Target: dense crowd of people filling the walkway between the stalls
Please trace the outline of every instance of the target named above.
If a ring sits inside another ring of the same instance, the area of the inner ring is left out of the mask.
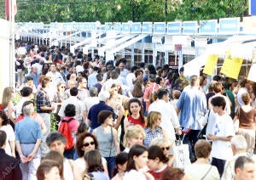
[[[16,87],[2,94],[0,179],[256,178],[246,76],[186,77],[32,42],[16,43],[15,65]]]

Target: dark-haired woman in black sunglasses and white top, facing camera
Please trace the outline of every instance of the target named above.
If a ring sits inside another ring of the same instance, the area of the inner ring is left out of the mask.
[[[79,158],[74,161],[74,163],[79,167],[79,172],[83,175],[83,172],[86,170],[86,166],[84,166],[84,154],[89,152],[90,150],[99,149],[99,143],[96,137],[89,132],[84,132],[79,134],[76,143],[77,153]],[[108,175],[108,166],[107,160],[102,157],[102,166],[104,172]]]

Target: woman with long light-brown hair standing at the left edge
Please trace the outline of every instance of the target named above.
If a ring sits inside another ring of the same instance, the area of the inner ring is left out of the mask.
[[[13,87],[5,87],[3,89],[2,106],[6,112],[8,119],[10,120],[11,126],[15,127],[15,105],[12,100],[15,98],[15,89]]]

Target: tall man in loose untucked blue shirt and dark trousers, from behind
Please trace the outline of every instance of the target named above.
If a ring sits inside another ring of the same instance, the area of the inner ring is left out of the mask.
[[[207,110],[207,98],[199,90],[198,76],[192,76],[190,87],[186,87],[177,101],[177,114],[180,112],[180,125],[188,130],[183,143],[189,144],[189,157],[195,159],[192,145],[196,143],[197,135],[201,130],[201,118]]]

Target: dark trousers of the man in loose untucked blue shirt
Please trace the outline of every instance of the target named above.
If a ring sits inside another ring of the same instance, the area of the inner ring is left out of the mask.
[[[183,136],[185,136],[183,139],[183,143],[186,143],[189,145],[189,158],[195,157],[194,146],[195,146],[196,141],[198,140],[197,136],[198,136],[199,132],[200,132],[200,130],[192,130],[191,129],[188,134],[183,135]]]

